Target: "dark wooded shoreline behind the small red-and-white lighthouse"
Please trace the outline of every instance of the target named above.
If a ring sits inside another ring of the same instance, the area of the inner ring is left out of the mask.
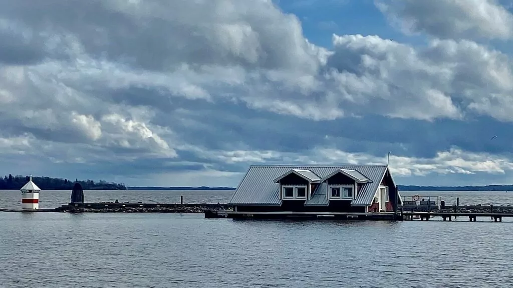
[[[5,176],[0,178],[0,190],[19,190],[29,180],[29,176],[16,175]],[[126,190],[125,184],[123,183],[109,183],[104,180],[95,182],[93,180],[78,180],[70,181],[62,178],[50,178],[50,177],[34,177],[32,181],[41,190],[73,190],[75,182],[82,185],[84,190]]]

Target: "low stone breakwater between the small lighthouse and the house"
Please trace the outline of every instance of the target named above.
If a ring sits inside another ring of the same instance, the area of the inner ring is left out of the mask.
[[[205,213],[231,210],[228,204],[69,203],[55,209],[67,213]]]

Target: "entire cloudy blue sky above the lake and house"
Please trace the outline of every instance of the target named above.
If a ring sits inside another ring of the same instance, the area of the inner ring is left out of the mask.
[[[399,184],[513,183],[512,4],[0,0],[0,169],[236,186],[391,151]]]

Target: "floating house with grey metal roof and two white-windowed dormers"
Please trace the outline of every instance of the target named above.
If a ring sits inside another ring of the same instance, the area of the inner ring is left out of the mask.
[[[402,205],[386,165],[250,166],[235,212],[394,212]]]

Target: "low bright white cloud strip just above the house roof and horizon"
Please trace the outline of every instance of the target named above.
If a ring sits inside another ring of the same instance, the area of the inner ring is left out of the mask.
[[[279,163],[298,165],[317,164],[386,164],[387,156],[372,156],[366,153],[349,153],[333,148],[314,148],[297,153],[280,151],[209,151],[198,147],[188,147],[204,159],[222,163]],[[436,176],[450,174],[506,174],[513,172],[513,160],[490,153],[473,153],[452,147],[440,151],[434,157],[405,157],[390,155],[390,170],[394,177],[404,179],[411,176]],[[193,172],[188,172],[192,174]],[[200,174],[203,175],[204,172]],[[200,175],[198,174],[198,176]],[[200,176],[199,176],[200,177]]]

